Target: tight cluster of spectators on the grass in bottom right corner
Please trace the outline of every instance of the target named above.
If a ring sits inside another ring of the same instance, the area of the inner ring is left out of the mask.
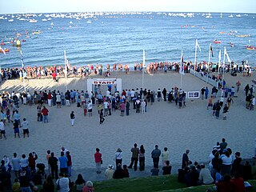
[[[190,150],[182,156],[182,169],[178,170],[178,181],[185,182],[186,186],[200,186],[215,184],[207,191],[245,191],[251,189],[251,185],[245,182],[255,175],[255,166],[250,162],[242,162],[240,152],[233,154],[227,147],[225,138],[217,142],[210,153],[209,164],[191,162],[189,159]],[[254,167],[254,168],[253,168]]]

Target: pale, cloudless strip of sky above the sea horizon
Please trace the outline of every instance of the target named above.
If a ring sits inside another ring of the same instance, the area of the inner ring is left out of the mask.
[[[1,0],[0,14],[93,11],[256,13],[255,0]]]

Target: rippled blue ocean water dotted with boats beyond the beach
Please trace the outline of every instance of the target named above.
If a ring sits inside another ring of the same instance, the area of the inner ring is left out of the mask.
[[[218,62],[220,49],[223,59],[226,46],[232,61],[247,60],[250,66],[256,66],[256,50],[245,47],[256,46],[256,14],[239,14],[241,17],[233,14],[233,18],[230,14],[221,17],[218,13],[209,18],[202,13],[194,13],[194,17],[172,16],[171,13],[62,14],[64,18],[59,14],[49,15],[37,14],[30,18],[18,14],[0,15],[0,39],[6,42],[2,48],[10,48],[6,56],[0,54],[2,67],[21,66],[19,49],[8,43],[17,33],[22,34],[20,40],[26,40],[21,47],[25,66],[64,65],[64,50],[72,66],[122,63],[132,67],[135,62],[142,62],[143,49],[146,63],[178,62],[182,50],[184,60],[194,62],[196,38],[201,47],[197,52],[198,62],[208,62],[212,43],[214,57],[210,57],[210,62]],[[13,22],[9,22],[11,18]],[[51,20],[42,21],[44,18]],[[32,34],[38,30],[40,34]],[[222,43],[214,44],[214,39]],[[229,42],[234,43],[234,47]]]

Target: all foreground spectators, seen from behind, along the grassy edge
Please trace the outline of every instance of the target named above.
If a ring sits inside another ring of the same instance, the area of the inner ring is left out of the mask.
[[[130,150],[130,166],[122,165],[122,150],[118,148],[114,153],[115,169],[113,165],[107,166],[103,174],[106,180],[129,178],[129,169],[145,170],[145,148],[141,145],[138,148],[137,143]],[[186,186],[200,186],[215,184],[209,187],[208,191],[244,191],[251,188],[249,179],[256,174],[256,166],[250,165],[250,162],[243,162],[240,152],[235,152],[228,147],[225,138],[222,142],[217,142],[209,155],[209,164],[192,162],[189,158],[190,150],[182,155],[182,167],[178,170],[178,182],[185,182]],[[167,147],[161,151],[158,145],[150,153],[153,168],[150,170],[152,176],[159,174],[159,161],[162,159],[162,174],[171,174],[170,152]],[[76,191],[94,191],[93,182],[85,181],[82,174],[78,174],[75,181],[71,181],[72,158],[70,151],[62,146],[60,156],[57,158],[54,152],[46,151],[46,161],[48,165],[37,163],[38,154],[35,152],[22,154],[14,153],[12,158],[6,155],[1,161],[0,169],[0,190],[4,191],[54,191],[56,188],[60,191],[68,192],[71,188]],[[102,173],[102,154],[98,148],[94,153],[95,172]],[[48,168],[45,170],[45,168]],[[11,182],[10,172],[14,171],[14,182]],[[246,185],[245,185],[246,184]],[[40,189],[40,190],[39,190]],[[237,189],[237,190],[234,190]]]

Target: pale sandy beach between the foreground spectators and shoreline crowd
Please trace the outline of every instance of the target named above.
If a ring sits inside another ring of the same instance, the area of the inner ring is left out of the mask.
[[[88,78],[104,77],[97,75]],[[142,87],[141,72],[115,72],[111,73],[110,78],[122,78],[122,89]],[[66,86],[69,90],[86,90],[86,79],[60,78],[58,82],[51,78],[29,79],[26,80],[26,88],[30,93],[34,90],[65,91]],[[166,146],[170,151],[170,163],[179,165],[186,149],[190,149],[189,157],[193,162],[206,162],[216,142],[226,138],[228,147],[234,152],[240,151],[242,158],[251,158],[254,156],[256,134],[255,110],[246,110],[243,89],[247,83],[253,84],[251,80],[255,79],[255,73],[252,77],[242,77],[242,74],[232,77],[226,74],[225,79],[229,87],[235,86],[238,79],[242,82],[239,93],[235,93],[238,98],[234,98],[226,121],[222,120],[222,113],[219,119],[212,117],[212,110],[206,110],[206,99],[187,99],[186,107],[182,109],[178,109],[174,103],[156,100],[152,106],[148,106],[146,114],[136,114],[135,110],[131,109],[129,116],[121,117],[120,111],[116,110],[111,116],[107,116],[101,125],[97,106],[94,106],[93,116],[90,118],[84,117],[82,108],[78,108],[74,103],[71,106],[62,106],[61,109],[46,105],[50,110],[49,123],[42,123],[37,122],[36,105],[20,104],[21,118],[26,118],[30,123],[30,138],[14,138],[13,126],[7,123],[7,139],[0,140],[0,157],[6,154],[11,158],[14,152],[21,157],[22,154],[28,155],[35,151],[38,154],[37,162],[46,164],[46,150],[53,151],[59,157],[61,146],[65,146],[70,150],[73,169],[86,170],[94,168],[96,147],[102,152],[103,167],[114,164],[114,152],[118,147],[123,151],[123,164],[130,164],[130,148],[137,142],[138,146],[145,146],[146,166],[153,166],[150,153],[155,144],[158,144],[161,150]],[[169,91],[174,86],[180,87],[178,73],[168,71],[167,74],[145,74],[146,89],[157,91],[158,88],[162,90],[166,87]],[[203,86],[208,86],[210,90],[212,88],[191,74],[182,76],[182,90],[201,90]],[[22,91],[23,83],[19,79],[8,80],[2,83],[1,90]],[[215,98],[214,102],[218,98]],[[72,110],[76,116],[74,126],[70,124]]]

